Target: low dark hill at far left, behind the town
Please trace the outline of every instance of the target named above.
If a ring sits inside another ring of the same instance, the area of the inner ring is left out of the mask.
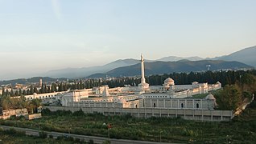
[[[0,81],[0,86],[7,85],[7,84],[11,84],[14,86],[16,83],[19,83],[19,84],[34,83],[34,82],[39,82],[40,79],[42,79],[44,83],[44,82],[56,82],[57,80],[64,81],[67,78],[49,78],[49,77],[18,78],[13,80]]]

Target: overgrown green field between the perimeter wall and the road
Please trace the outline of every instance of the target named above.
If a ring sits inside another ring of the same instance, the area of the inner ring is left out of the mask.
[[[44,111],[43,118],[26,121],[0,121],[2,125],[21,126],[33,129],[70,132],[73,134],[107,137],[107,126],[111,138],[139,139],[159,142],[185,143],[254,143],[256,142],[256,102],[242,115],[231,122],[195,122],[181,118],[132,118],[126,116],[104,116],[101,114],[83,114],[81,111]]]

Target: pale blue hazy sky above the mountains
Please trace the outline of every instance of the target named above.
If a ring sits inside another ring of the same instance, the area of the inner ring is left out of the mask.
[[[0,80],[255,45],[255,0],[0,0]]]

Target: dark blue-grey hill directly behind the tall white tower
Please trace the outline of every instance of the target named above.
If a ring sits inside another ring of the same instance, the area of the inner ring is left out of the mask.
[[[181,60],[178,62],[145,62],[145,73],[150,74],[170,74],[173,72],[190,72],[190,71],[204,71],[206,65],[211,65],[210,70],[222,70],[222,69],[250,69],[252,66],[248,66],[242,62],[225,62],[220,60],[202,60],[202,61],[188,61]],[[105,75],[110,77],[120,76],[135,76],[140,75],[140,64],[132,66],[123,66],[110,70],[104,74],[93,74],[89,78],[104,78]]]

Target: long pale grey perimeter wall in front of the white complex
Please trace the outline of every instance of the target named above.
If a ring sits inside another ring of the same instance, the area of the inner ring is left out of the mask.
[[[130,114],[137,118],[167,117],[184,118],[196,121],[230,121],[233,118],[232,110],[188,110],[188,109],[158,109],[158,108],[110,108],[110,107],[66,107],[43,106],[51,111],[70,110],[73,112],[83,110],[85,114],[101,113],[105,115]]]

